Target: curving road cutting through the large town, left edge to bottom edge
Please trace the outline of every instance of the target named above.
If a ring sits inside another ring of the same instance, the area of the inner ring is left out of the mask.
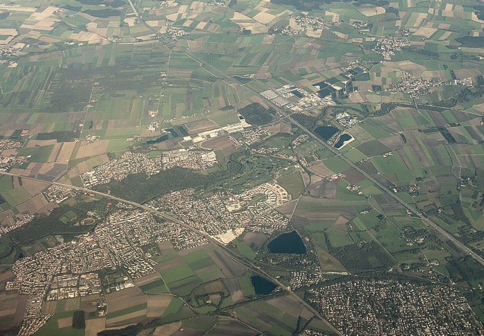
[[[19,177],[19,178],[26,178],[28,180],[39,180],[38,178],[32,178],[30,176],[21,176],[19,174],[12,174],[12,173],[6,173],[6,172],[2,172],[2,173],[0,173],[0,175],[1,174],[5,174],[5,175],[9,175],[9,176],[15,176],[15,177]],[[248,259],[245,259],[245,257],[241,256],[240,254],[237,254],[233,250],[230,250],[230,248],[227,248],[227,246],[225,246],[223,243],[221,243],[217,239],[214,239],[214,237],[210,236],[206,232],[203,232],[201,230],[198,230],[196,227],[192,227],[192,225],[188,225],[187,223],[185,223],[183,221],[180,221],[180,219],[175,218],[174,216],[171,216],[171,214],[167,214],[166,212],[161,212],[159,210],[153,209],[152,207],[149,207],[147,205],[143,205],[143,204],[140,204],[140,203],[136,203],[136,202],[133,202],[131,200],[125,200],[123,198],[120,198],[120,197],[117,197],[117,196],[113,196],[111,194],[106,194],[104,192],[97,192],[96,190],[92,190],[92,189],[88,189],[88,188],[84,188],[84,187],[76,187],[76,186],[73,186],[73,185],[68,185],[66,183],[59,183],[59,182],[50,182],[50,185],[58,185],[59,187],[75,189],[75,190],[78,190],[80,192],[86,192],[86,193],[90,193],[90,194],[96,194],[96,195],[100,195],[100,196],[109,198],[111,200],[118,200],[119,202],[126,203],[128,205],[132,205],[133,207],[139,207],[141,209],[144,209],[147,212],[150,212],[151,214],[153,214],[155,216],[158,216],[160,218],[165,218],[167,221],[170,221],[172,223],[176,223],[176,224],[180,225],[181,227],[185,227],[185,229],[187,229],[187,230],[191,230],[193,232],[196,232],[197,234],[200,234],[205,239],[207,239],[207,241],[210,241],[210,243],[212,243],[212,244],[216,245],[218,248],[220,248],[225,254],[227,254],[227,256],[230,257],[230,259],[232,259],[236,263],[241,264],[244,268],[247,268],[248,270],[251,270],[252,272],[254,272],[256,274],[262,274],[264,277],[266,277],[266,278],[270,279],[272,282],[276,283],[277,286],[281,287],[283,290],[285,290],[286,292],[288,292],[289,295],[291,295],[292,297],[294,297],[297,301],[299,301],[306,308],[308,308],[308,310],[310,310],[310,312],[313,312],[313,314],[316,317],[318,317],[319,319],[321,319],[322,321],[324,321],[326,324],[328,324],[328,326],[331,326],[331,328],[333,328],[333,332],[334,333],[336,333],[337,335],[342,335],[342,333],[340,333],[339,330],[337,330],[336,328],[334,328],[331,325],[331,323],[329,323],[329,321],[327,321],[321,314],[319,314],[319,312],[317,312],[317,310],[315,310],[306,301],[304,301],[304,299],[301,299],[301,297],[298,297],[294,292],[292,292],[291,290],[289,290],[279,280],[277,280],[276,278],[272,277],[272,275],[268,274],[268,272],[266,272],[265,270],[257,267],[256,265],[254,265],[254,263],[252,263]]]

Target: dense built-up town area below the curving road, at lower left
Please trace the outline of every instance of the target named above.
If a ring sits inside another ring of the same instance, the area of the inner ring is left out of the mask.
[[[118,210],[93,232],[17,261],[16,278],[6,283],[6,290],[28,295],[19,335],[31,335],[48,319],[41,312],[44,297],[50,301],[99,293],[100,270],[121,268],[131,279],[155,272],[156,262],[140,247],[161,241],[171,241],[177,250],[207,243],[203,236],[176,223],[160,223],[144,210]]]

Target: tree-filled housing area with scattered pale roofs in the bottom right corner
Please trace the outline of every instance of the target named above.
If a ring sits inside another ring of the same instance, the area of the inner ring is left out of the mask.
[[[480,335],[483,325],[450,286],[354,279],[309,290],[309,301],[344,335]]]

